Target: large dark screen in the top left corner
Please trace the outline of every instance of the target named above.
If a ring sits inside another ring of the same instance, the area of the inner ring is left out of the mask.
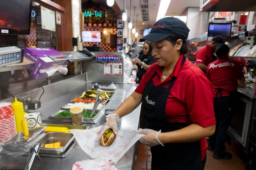
[[[29,35],[32,0],[1,0],[0,35]]]

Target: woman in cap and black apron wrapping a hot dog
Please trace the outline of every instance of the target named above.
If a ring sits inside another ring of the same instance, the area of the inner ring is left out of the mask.
[[[138,133],[144,134],[140,142],[151,148],[152,170],[204,168],[205,137],[215,131],[213,87],[201,69],[184,57],[188,33],[183,21],[166,17],[140,39],[151,42],[156,63],[119,108],[107,115],[97,142],[109,128],[117,134],[119,118],[142,102],[147,129],[139,129]]]

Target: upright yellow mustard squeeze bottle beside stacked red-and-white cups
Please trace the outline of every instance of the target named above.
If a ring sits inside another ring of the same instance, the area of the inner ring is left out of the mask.
[[[14,102],[12,103],[12,110],[15,116],[17,133],[20,133],[23,131],[21,120],[24,119],[25,117],[24,117],[23,103],[17,101],[16,97]]]

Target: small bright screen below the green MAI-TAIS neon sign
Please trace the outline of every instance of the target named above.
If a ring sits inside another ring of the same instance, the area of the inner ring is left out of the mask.
[[[101,42],[100,31],[82,31],[83,42]]]

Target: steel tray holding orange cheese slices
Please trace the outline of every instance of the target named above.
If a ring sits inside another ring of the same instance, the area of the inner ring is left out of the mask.
[[[40,140],[41,148],[39,153],[41,154],[63,154],[67,147],[71,144],[74,139],[74,135],[72,133],[59,133],[59,132],[49,132],[45,133]],[[60,146],[63,146],[59,149],[54,148],[45,148],[45,144],[60,142]]]

